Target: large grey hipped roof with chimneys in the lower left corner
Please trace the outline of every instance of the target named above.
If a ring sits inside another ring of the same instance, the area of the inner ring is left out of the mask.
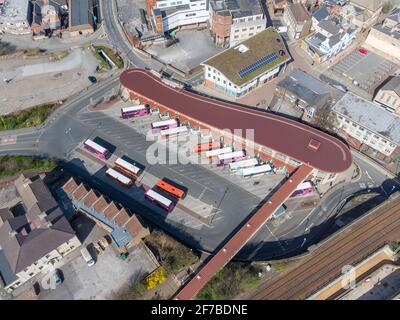
[[[51,194],[42,179],[21,175],[15,185],[22,200],[28,202],[24,203],[28,210],[0,225],[0,247],[10,269],[17,274],[72,239],[75,232],[55,200],[49,199]]]

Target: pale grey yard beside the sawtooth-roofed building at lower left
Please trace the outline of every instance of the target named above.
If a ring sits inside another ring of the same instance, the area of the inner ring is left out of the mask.
[[[104,231],[90,220],[80,217],[72,223],[78,237],[84,244],[98,240]],[[77,255],[61,267],[64,282],[55,290],[43,290],[41,300],[103,300],[110,299],[114,292],[132,284],[152,272],[157,265],[140,247],[130,252],[122,261],[110,245],[97,256],[96,264],[88,267],[80,256],[80,249],[71,253]]]

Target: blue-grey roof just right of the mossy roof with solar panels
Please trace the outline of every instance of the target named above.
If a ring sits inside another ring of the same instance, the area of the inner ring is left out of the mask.
[[[321,99],[326,98],[329,93],[329,87],[326,83],[300,69],[294,69],[278,83],[278,87],[292,92],[311,105],[320,103]]]

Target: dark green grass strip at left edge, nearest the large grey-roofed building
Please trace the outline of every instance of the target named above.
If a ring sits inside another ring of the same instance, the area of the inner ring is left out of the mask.
[[[51,171],[57,167],[52,160],[27,156],[0,157],[0,177],[9,177],[29,171]]]

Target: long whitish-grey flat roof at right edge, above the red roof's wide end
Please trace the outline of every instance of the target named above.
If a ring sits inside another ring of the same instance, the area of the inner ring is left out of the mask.
[[[347,92],[332,110],[400,144],[400,117],[378,104]]]

